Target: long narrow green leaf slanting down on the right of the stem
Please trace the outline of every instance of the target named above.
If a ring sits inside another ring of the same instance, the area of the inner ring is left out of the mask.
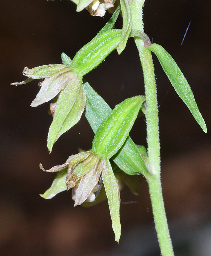
[[[201,113],[199,112],[192,90],[174,59],[171,57],[170,54],[166,52],[166,50],[162,46],[158,44],[152,44],[148,47],[148,49],[156,54],[165,74],[170,80],[176,93],[189,108],[193,117],[201,126],[203,131],[207,132],[206,124],[204,122],[204,119],[202,118]]]

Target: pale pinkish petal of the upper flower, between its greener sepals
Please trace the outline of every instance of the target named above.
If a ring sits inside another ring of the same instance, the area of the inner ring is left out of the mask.
[[[44,79],[44,81],[39,84],[42,87],[32,102],[31,107],[37,107],[40,104],[53,99],[62,89],[66,87],[66,85],[71,81],[72,77],[73,73],[68,71]]]

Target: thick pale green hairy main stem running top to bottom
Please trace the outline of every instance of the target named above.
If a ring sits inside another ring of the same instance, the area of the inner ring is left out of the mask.
[[[145,0],[134,0],[131,4],[133,29],[144,32],[142,21],[142,8]],[[146,120],[147,143],[151,177],[146,177],[149,184],[153,215],[155,220],[158,242],[162,256],[173,256],[173,248],[168,230],[165,208],[162,197],[160,181],[160,152],[159,152],[159,128],[158,128],[158,104],[155,82],[154,66],[151,51],[144,47],[142,39],[135,37],[135,43],[139,51],[142,64],[145,95],[146,95]]]

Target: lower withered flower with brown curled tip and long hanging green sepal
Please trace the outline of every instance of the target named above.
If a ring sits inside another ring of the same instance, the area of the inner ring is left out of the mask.
[[[41,164],[40,168],[46,172],[59,172],[67,165],[66,186],[67,190],[72,188],[74,206],[80,205],[85,201],[93,202],[95,200],[94,193],[97,191],[98,182],[102,175],[115,240],[119,242],[121,235],[120,193],[109,159],[101,158],[92,151],[87,151],[70,156],[64,164],[54,166],[50,170],[45,170]]]

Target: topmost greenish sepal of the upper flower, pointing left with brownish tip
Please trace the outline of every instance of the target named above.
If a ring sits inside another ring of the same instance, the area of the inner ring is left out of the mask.
[[[63,64],[50,64],[50,65],[35,67],[32,69],[25,67],[23,70],[23,75],[28,76],[32,79],[42,79],[42,78],[52,77],[56,74],[61,74],[70,70],[71,70],[70,67],[66,67]]]

